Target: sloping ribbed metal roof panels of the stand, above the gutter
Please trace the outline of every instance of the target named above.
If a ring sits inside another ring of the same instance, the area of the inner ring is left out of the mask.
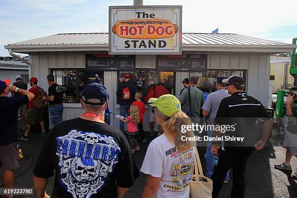
[[[58,33],[12,45],[108,44],[108,33]],[[235,33],[182,33],[182,45],[292,45]]]

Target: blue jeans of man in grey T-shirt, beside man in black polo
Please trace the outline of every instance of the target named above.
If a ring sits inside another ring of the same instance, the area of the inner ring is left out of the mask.
[[[212,137],[213,132],[208,131],[207,136]],[[214,154],[212,153],[212,141],[207,141],[207,149],[206,149],[204,158],[206,161],[206,177],[211,178],[214,173],[214,165],[213,165]],[[225,181],[229,180],[229,173],[230,173],[230,170],[228,170],[227,172]]]

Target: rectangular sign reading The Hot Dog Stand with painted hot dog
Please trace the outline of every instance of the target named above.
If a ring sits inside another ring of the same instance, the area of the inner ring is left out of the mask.
[[[181,54],[182,6],[110,6],[109,54]]]

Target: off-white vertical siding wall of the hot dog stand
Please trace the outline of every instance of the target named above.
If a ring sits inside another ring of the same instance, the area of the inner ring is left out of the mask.
[[[209,54],[208,68],[213,69],[246,69],[247,93],[259,99],[264,106],[268,104],[268,82],[270,72],[269,55],[260,54]],[[46,76],[50,68],[85,68],[84,54],[31,54],[32,76],[36,77],[39,86],[48,90]],[[156,68],[155,55],[136,55],[136,68]],[[188,72],[176,73],[176,95],[179,96],[182,89],[181,81],[189,77]],[[109,109],[119,114],[119,106],[116,105],[117,75],[115,71],[104,72],[104,82],[110,94]],[[63,119],[71,119],[80,116],[82,109],[80,104],[65,104]],[[148,120],[148,111],[144,116]],[[111,115],[111,125],[119,126],[119,120]],[[144,129],[148,130],[148,122],[144,122]]]

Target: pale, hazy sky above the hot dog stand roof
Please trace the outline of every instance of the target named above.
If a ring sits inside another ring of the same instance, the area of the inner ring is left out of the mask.
[[[181,5],[182,32],[239,33],[292,43],[297,37],[296,0],[143,0]],[[108,6],[133,0],[1,0],[0,56],[4,45],[56,33],[108,32]]]

